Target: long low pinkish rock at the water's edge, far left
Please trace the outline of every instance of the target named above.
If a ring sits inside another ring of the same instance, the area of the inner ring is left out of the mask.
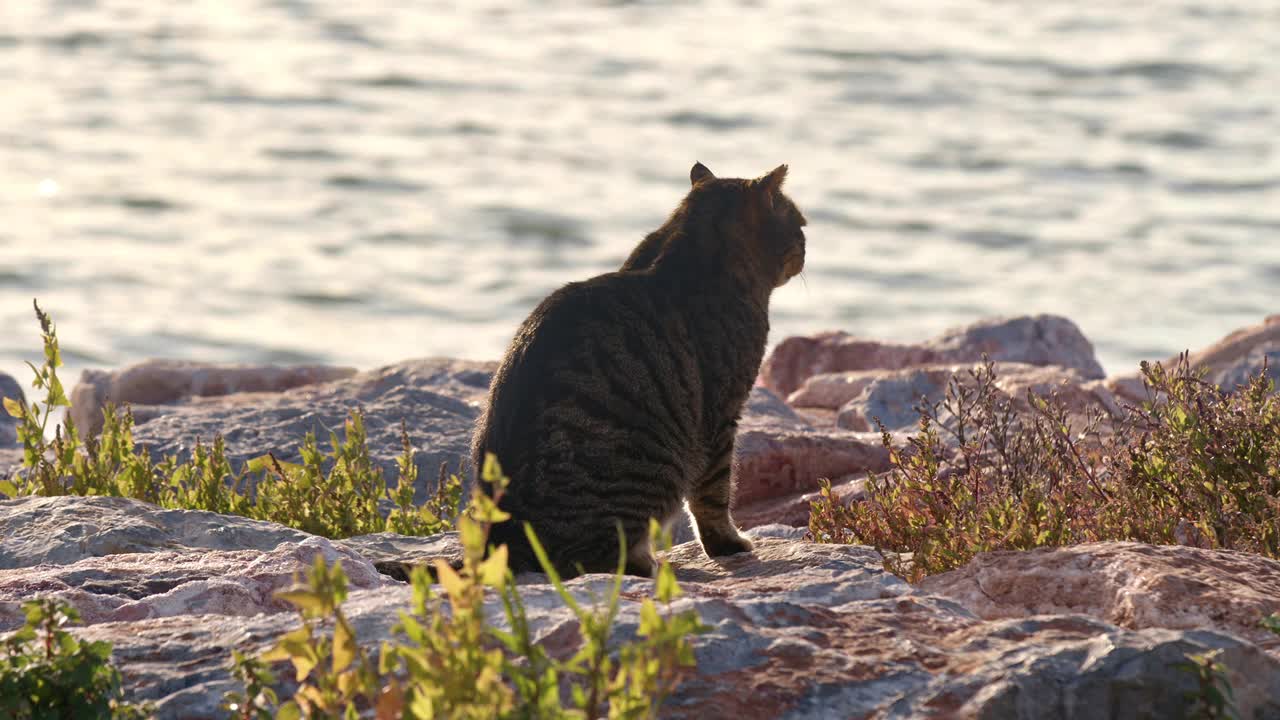
[[[102,407],[128,402],[134,414],[163,413],[152,405],[172,405],[197,397],[220,397],[284,389],[348,378],[353,368],[329,365],[218,365],[183,360],[147,360],[120,370],[84,370],[72,391],[72,420],[86,434],[102,429]]]

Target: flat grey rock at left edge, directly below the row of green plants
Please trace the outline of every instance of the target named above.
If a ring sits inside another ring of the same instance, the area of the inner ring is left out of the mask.
[[[269,551],[310,537],[275,523],[202,510],[163,510],[123,497],[0,500],[0,570],[161,550]]]

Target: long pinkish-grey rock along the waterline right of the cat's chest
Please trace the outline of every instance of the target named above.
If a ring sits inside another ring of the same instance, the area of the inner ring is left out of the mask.
[[[760,383],[787,396],[819,373],[977,363],[984,354],[992,360],[1070,368],[1087,379],[1105,377],[1093,346],[1074,323],[1034,315],[984,320],[918,345],[877,342],[844,332],[791,337],[764,360]]]

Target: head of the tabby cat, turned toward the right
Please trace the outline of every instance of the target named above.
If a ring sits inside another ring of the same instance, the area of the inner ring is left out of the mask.
[[[689,172],[685,208],[731,269],[781,287],[804,269],[804,215],[782,193],[787,167],[754,179],[718,178],[701,163]]]

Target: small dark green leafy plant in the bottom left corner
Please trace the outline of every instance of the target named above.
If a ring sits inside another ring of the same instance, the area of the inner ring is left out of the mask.
[[[0,716],[134,719],[146,706],[123,701],[111,646],[81,642],[64,628],[79,620],[69,605],[40,598],[22,605],[26,624],[0,643]]]

